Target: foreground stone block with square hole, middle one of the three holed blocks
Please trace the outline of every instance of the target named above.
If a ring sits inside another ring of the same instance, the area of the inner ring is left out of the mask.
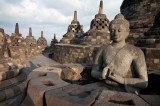
[[[47,74],[52,73],[53,72],[47,72]],[[27,97],[22,104],[25,105],[25,103],[29,102],[33,103],[34,106],[43,106],[43,96],[46,91],[61,88],[66,85],[68,85],[68,83],[62,81],[56,73],[51,76],[33,78],[29,81]]]

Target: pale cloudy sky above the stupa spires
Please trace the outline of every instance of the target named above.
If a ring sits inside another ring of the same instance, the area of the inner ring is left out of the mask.
[[[110,21],[120,12],[122,1],[103,0],[104,13]],[[24,37],[32,27],[36,39],[40,31],[44,31],[49,44],[54,33],[58,40],[66,33],[74,10],[77,10],[84,31],[88,31],[91,20],[98,13],[99,3],[100,0],[0,0],[0,27],[11,35],[18,22]]]

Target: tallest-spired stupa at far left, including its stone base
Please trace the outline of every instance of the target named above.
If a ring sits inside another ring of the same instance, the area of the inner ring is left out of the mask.
[[[13,64],[22,66],[26,59],[26,42],[22,34],[19,33],[18,23],[16,23],[15,33],[12,33],[11,36],[7,36],[7,46]]]

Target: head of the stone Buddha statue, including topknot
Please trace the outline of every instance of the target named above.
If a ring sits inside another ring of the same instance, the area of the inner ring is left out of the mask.
[[[125,41],[129,35],[129,22],[124,18],[122,14],[115,16],[114,20],[110,22],[110,38],[113,42]]]

